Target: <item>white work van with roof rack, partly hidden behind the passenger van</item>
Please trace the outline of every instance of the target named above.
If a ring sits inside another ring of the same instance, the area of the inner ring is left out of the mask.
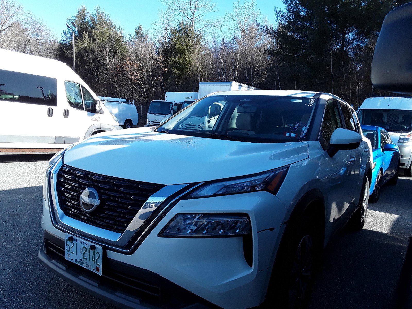
[[[115,120],[119,122],[123,129],[130,129],[132,126],[138,124],[139,114],[133,102],[122,98],[110,98],[108,96],[99,96],[98,98],[101,103],[107,107],[110,114],[115,116]]]

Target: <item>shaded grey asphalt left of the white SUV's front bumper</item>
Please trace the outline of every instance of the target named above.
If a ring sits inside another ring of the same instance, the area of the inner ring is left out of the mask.
[[[116,307],[66,283],[37,258],[42,186],[0,190],[0,308]]]

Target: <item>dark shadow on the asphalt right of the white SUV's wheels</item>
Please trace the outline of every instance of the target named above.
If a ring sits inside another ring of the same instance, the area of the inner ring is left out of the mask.
[[[390,307],[406,243],[368,229],[337,234],[325,248],[308,308]]]

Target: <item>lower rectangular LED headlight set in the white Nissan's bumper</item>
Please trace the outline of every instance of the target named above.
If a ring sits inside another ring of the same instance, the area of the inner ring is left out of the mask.
[[[160,237],[229,237],[250,234],[246,214],[178,214],[159,233]]]

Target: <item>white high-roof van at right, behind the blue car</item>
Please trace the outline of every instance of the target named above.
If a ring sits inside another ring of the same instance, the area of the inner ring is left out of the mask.
[[[367,98],[358,110],[361,124],[380,126],[388,131],[400,152],[400,167],[412,176],[412,98]]]

